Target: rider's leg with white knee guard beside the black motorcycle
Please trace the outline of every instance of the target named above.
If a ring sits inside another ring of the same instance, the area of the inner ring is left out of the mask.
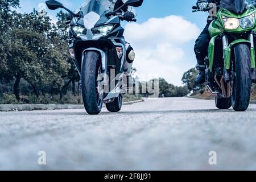
[[[135,59],[135,52],[134,52],[133,48],[130,46],[130,44],[126,43],[126,62],[123,65],[123,71],[125,72],[125,74],[127,76],[127,80],[128,80],[127,87],[134,86],[134,82],[131,77],[131,68],[133,68],[134,59]]]

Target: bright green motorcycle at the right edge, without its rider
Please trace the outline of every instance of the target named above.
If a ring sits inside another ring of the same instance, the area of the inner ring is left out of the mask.
[[[222,0],[203,11],[214,12],[205,59],[205,83],[218,109],[247,110],[252,82],[256,81],[254,34],[255,1]],[[193,6],[195,11],[202,11]]]

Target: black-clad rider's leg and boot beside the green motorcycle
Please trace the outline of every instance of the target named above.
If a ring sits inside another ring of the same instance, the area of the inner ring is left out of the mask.
[[[203,84],[205,81],[205,57],[208,55],[208,46],[210,42],[210,35],[208,30],[209,24],[210,22],[207,23],[207,26],[204,28],[203,32],[201,32],[195,44],[195,53],[197,59],[196,68],[199,71],[195,80],[197,84]]]

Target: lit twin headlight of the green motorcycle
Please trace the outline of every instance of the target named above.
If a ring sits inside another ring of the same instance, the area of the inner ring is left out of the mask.
[[[254,19],[255,19],[255,13],[240,19],[228,18],[226,16],[222,16],[222,21],[224,23],[224,26],[226,29],[229,29],[229,30],[235,30],[239,26],[241,26],[242,28],[253,27]]]

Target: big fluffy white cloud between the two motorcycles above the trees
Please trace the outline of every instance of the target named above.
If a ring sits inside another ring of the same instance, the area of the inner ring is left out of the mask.
[[[126,40],[136,52],[134,67],[138,75],[158,75],[175,85],[181,85],[183,73],[191,66],[184,63],[195,60],[184,51],[184,45],[199,33],[195,24],[175,15],[151,18],[141,24],[128,23],[125,27]]]

